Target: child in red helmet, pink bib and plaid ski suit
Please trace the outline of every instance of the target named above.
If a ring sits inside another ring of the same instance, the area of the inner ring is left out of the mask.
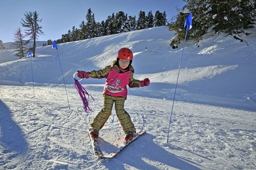
[[[115,103],[116,115],[125,133],[124,140],[132,140],[136,136],[134,124],[130,115],[124,110],[124,102],[127,98],[127,88],[143,87],[150,85],[150,80],[145,78],[142,81],[133,78],[134,68],[132,66],[133,53],[129,48],[121,48],[117,53],[117,60],[111,65],[100,70],[90,72],[77,71],[77,77],[106,79],[103,90],[103,109],[96,115],[91,123],[91,137],[98,139],[99,130],[104,126],[111,115]]]

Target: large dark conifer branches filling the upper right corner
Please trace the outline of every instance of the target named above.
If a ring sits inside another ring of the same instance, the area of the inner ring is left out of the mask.
[[[248,28],[253,28],[256,21],[255,1],[251,0],[185,0],[186,5],[169,24],[169,30],[176,31],[179,41],[185,38],[184,21],[193,12],[193,28],[187,33],[187,39],[198,39],[207,31],[226,33],[238,38]],[[184,10],[188,9],[188,11]],[[240,39],[242,41],[242,39]]]

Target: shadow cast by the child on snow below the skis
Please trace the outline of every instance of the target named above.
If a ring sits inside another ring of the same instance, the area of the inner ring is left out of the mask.
[[[121,151],[116,157],[105,159],[102,163],[109,169],[116,167],[118,169],[159,169],[158,166],[162,167],[163,164],[166,165],[166,168],[200,169],[193,165],[196,163],[164,150],[153,141],[154,138],[156,137],[146,133],[143,137],[131,143],[129,147]],[[106,143],[104,142],[104,144]],[[107,150],[116,148],[114,146],[111,147],[110,143],[106,146]]]

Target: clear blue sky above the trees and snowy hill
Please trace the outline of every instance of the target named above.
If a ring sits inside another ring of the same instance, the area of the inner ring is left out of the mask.
[[[25,18],[26,11],[37,11],[39,18],[42,18],[40,25],[45,35],[39,35],[38,40],[47,41],[61,38],[73,26],[79,28],[83,20],[86,22],[89,8],[98,22],[105,21],[113,12],[123,11],[138,18],[140,11],[147,14],[151,10],[153,15],[157,10],[165,11],[169,20],[177,14],[176,7],[182,8],[184,4],[182,0],[3,0],[0,2],[0,40],[4,43],[13,41],[18,28],[24,33],[25,28],[20,21]]]

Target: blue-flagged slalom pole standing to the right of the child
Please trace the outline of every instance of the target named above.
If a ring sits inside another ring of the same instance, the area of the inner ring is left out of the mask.
[[[181,61],[182,61],[182,57],[183,57],[183,52],[184,52],[184,47],[185,47],[185,42],[186,42],[186,37],[187,37],[187,31],[192,28],[192,13],[190,13],[189,16],[186,18],[185,26],[187,26],[187,29],[186,29],[186,35],[185,35],[185,40],[184,40],[184,44],[183,44],[182,55],[181,55],[181,59],[180,59],[180,66],[181,66]],[[174,92],[172,111],[170,113],[170,122],[169,122],[168,134],[167,134],[167,143],[168,143],[168,139],[169,139],[170,123],[172,122],[175,95],[176,95],[176,90],[177,90],[177,85],[178,85],[178,80],[179,80],[179,75],[180,75],[180,66],[179,66],[178,77],[177,77],[177,82],[176,82],[176,87],[175,87],[175,92]]]

